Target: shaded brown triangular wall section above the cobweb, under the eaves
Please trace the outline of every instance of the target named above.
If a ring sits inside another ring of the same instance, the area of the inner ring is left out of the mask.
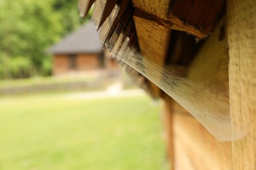
[[[226,37],[226,17],[219,22],[215,32],[208,37],[198,54],[190,64],[188,78],[192,80],[211,81],[211,88],[224,93],[228,105],[228,48]],[[216,94],[216,97],[218,94]],[[228,112],[227,112],[228,114]]]

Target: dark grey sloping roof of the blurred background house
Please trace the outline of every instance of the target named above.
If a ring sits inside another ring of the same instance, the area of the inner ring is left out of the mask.
[[[92,21],[87,22],[47,50],[52,54],[96,53],[100,51],[102,51],[102,46]]]

